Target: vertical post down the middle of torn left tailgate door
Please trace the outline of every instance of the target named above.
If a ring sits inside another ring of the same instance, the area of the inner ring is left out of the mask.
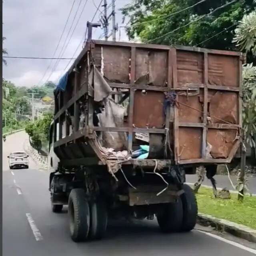
[[[131,48],[131,69],[130,69],[130,84],[135,82],[135,61],[136,61],[136,48]],[[134,92],[135,90],[130,88],[130,100],[129,100],[129,132],[128,132],[128,151],[132,152],[132,136],[133,136],[133,107],[134,107]]]

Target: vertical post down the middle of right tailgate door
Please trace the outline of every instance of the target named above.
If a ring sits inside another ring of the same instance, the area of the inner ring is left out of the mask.
[[[208,108],[208,53],[204,52],[204,114],[203,114],[203,138],[201,157],[206,158],[206,138],[207,138],[207,108]]]

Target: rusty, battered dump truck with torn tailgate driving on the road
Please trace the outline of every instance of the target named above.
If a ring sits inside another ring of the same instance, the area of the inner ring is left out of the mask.
[[[99,239],[108,219],[156,217],[190,231],[186,174],[216,173],[242,138],[242,54],[88,40],[60,79],[50,126],[53,212],[68,205],[72,240]]]

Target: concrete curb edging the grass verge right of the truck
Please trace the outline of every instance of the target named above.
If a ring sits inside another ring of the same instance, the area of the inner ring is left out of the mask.
[[[256,243],[256,230],[247,226],[200,212],[198,213],[197,222],[202,226],[212,226],[221,232],[225,231],[249,242]]]

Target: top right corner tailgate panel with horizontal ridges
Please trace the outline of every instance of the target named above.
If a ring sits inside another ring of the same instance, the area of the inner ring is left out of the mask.
[[[239,58],[208,54],[208,83],[239,87]]]

